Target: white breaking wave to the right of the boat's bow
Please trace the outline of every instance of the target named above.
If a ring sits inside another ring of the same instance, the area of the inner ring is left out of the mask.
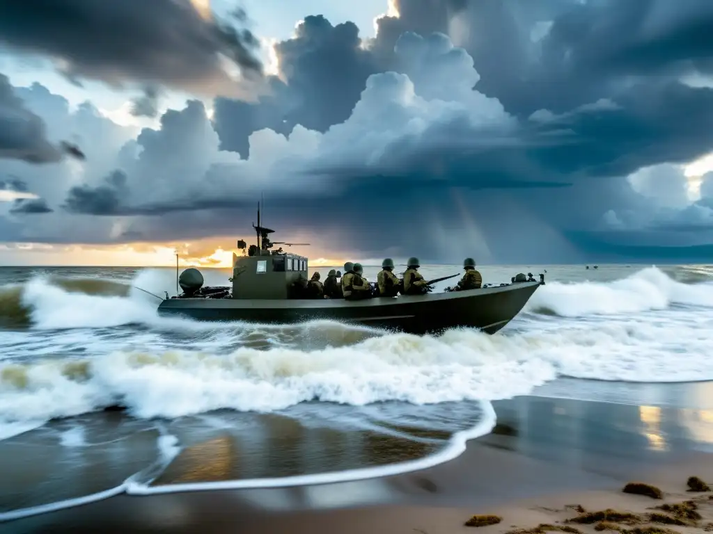
[[[672,304],[713,308],[713,284],[681,283],[650,267],[614,282],[548,282],[525,310],[575,318],[664,310]]]

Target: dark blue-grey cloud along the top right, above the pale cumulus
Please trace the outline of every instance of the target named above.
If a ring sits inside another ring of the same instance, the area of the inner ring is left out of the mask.
[[[401,71],[394,46],[406,31],[448,33],[473,57],[481,80],[476,89],[525,117],[547,108],[565,112],[622,92],[622,77],[682,74],[710,60],[707,33],[713,4],[687,0],[637,2],[540,0],[401,0],[399,17],[379,19],[367,50],[351,23],[332,26],[306,17],[295,38],[276,47],[288,82],[278,98],[257,104],[218,101],[215,117],[227,150],[246,157],[255,130],[315,130],[343,122],[372,73]],[[593,22],[595,21],[595,22]],[[549,33],[533,43],[536,23]],[[708,24],[708,26],[706,26]],[[682,38],[684,37],[685,38]],[[284,120],[284,125],[279,124]]]

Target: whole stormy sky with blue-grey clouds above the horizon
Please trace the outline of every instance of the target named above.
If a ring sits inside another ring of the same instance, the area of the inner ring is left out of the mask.
[[[0,76],[7,253],[230,248],[264,194],[322,256],[713,261],[709,0],[384,0],[376,32],[317,11],[282,38],[148,4],[0,0],[1,51],[86,100]]]

